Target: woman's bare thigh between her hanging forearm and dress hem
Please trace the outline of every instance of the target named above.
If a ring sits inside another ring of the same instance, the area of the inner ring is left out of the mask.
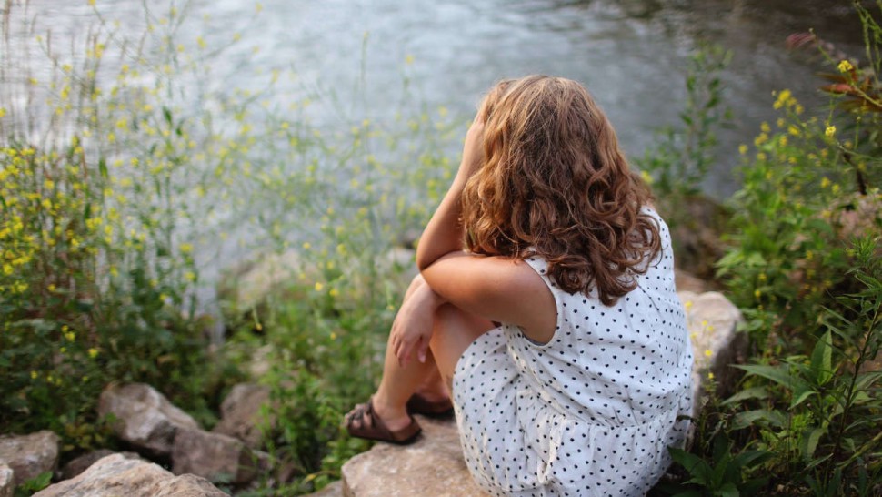
[[[436,310],[431,348],[447,389],[452,391],[453,373],[463,352],[478,337],[495,327],[492,321],[469,314],[452,304],[445,304]]]

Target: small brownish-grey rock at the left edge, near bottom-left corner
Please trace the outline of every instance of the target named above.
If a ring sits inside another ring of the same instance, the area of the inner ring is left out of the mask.
[[[13,486],[44,472],[55,472],[58,464],[58,435],[37,431],[29,435],[0,437],[0,465],[13,471]]]

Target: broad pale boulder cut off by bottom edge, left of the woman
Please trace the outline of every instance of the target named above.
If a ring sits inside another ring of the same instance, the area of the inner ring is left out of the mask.
[[[226,497],[204,478],[192,474],[175,477],[153,462],[126,459],[114,454],[95,462],[71,480],[58,482],[35,497]]]

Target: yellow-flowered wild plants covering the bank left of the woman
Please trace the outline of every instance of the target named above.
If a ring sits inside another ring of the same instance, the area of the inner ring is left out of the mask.
[[[242,36],[191,35],[186,3],[145,4],[142,33],[94,9],[92,29],[64,41],[17,7],[4,29],[29,37],[6,36],[3,60],[36,49],[51,71],[0,67],[28,75],[0,91],[0,431],[52,429],[68,456],[113,445],[95,403],[116,380],[149,383],[210,427],[240,366],[268,348],[275,464],[256,492],[336,478],[366,448],[339,423],[376,384],[413,265],[393,248],[425,226],[464,122],[410,102],[406,75],[386,120],[364,74],[333,113],[314,111],[337,105],[333,92],[278,95],[294,77],[279,69],[262,89],[215,88],[212,63]],[[218,347],[197,296],[235,259],[274,278],[222,275]]]

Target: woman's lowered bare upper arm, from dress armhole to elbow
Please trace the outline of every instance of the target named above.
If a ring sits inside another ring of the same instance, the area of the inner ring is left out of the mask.
[[[424,269],[423,277],[460,309],[515,324],[533,340],[547,341],[554,335],[554,296],[542,277],[521,259],[456,252]]]

